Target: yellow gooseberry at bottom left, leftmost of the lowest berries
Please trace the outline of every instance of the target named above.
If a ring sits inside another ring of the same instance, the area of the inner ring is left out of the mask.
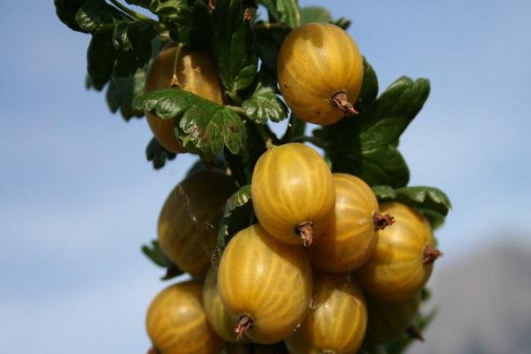
[[[218,354],[223,340],[210,327],[201,301],[203,285],[186,281],[158,293],[146,328],[158,354]]]

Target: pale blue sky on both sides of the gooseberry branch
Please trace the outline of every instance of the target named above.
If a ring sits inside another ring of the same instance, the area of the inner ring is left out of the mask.
[[[453,202],[438,267],[495,235],[527,245],[531,3],[301,4],[352,19],[381,88],[402,74],[431,80],[400,149],[412,184]],[[4,1],[0,20],[2,351],[142,353],[145,310],[165,284],[140,246],[191,158],[151,169],[146,122],[126,123],[84,89],[89,35],[60,23],[51,1]]]

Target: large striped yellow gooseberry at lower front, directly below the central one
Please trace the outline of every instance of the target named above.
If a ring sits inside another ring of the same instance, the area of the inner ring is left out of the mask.
[[[308,310],[312,268],[302,248],[277,241],[255,224],[228,242],[219,262],[218,289],[238,338],[280,342]]]

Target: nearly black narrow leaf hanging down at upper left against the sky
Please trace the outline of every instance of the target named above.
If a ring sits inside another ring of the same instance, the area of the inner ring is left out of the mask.
[[[111,79],[115,60],[116,50],[112,46],[110,33],[93,35],[87,51],[87,71],[96,89],[103,89]]]

